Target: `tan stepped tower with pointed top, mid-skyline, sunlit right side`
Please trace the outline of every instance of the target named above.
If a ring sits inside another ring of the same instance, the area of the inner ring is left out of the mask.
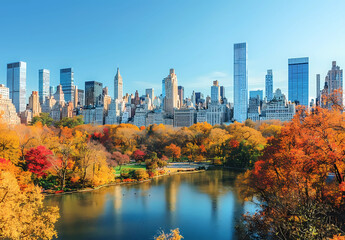
[[[177,91],[177,76],[175,70],[170,69],[169,75],[165,78],[165,98],[164,111],[168,115],[174,114],[174,108],[177,108],[178,91]]]

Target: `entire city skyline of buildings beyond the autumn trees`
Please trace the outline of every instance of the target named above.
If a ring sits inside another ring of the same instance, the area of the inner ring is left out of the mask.
[[[162,94],[155,96],[153,88],[144,95],[123,93],[123,79],[117,68],[114,77],[114,96],[108,94],[108,87],[101,82],[87,81],[84,89],[74,84],[72,68],[60,69],[60,84],[50,85],[50,71],[38,71],[39,89],[33,91],[26,102],[26,63],[7,65],[7,84],[0,85],[0,115],[9,124],[28,124],[40,113],[49,113],[54,121],[65,117],[82,115],[85,124],[132,123],[138,127],[151,124],[165,124],[174,127],[188,127],[198,122],[211,125],[278,119],[289,121],[296,113],[296,105],[310,107],[320,105],[322,96],[343,87],[343,70],[332,62],[332,68],[325,77],[324,88],[320,89],[320,74],[316,75],[316,98],[309,103],[309,59],[288,60],[288,98],[276,89],[273,92],[273,71],[267,70],[265,92],[248,92],[247,44],[234,44],[234,101],[225,96],[225,88],[215,80],[210,95],[193,91],[185,96],[184,87],[178,86],[174,69],[162,80]],[[249,94],[248,94],[249,93]],[[339,93],[339,104],[342,104]]]

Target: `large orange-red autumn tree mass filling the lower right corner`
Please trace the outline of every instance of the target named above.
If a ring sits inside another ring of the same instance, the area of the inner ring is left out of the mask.
[[[268,138],[237,181],[243,199],[261,203],[243,218],[244,239],[345,239],[344,120],[337,109],[300,110]]]

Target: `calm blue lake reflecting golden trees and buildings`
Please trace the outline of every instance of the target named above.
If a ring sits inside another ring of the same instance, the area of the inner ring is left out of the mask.
[[[153,239],[180,228],[184,239],[236,239],[238,217],[252,206],[236,196],[237,173],[207,171],[148,183],[47,197],[61,218],[59,239]]]

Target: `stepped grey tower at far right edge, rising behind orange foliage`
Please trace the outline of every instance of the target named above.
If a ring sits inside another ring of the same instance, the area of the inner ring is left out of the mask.
[[[341,93],[335,93],[336,90],[343,90],[343,70],[337,66],[337,62],[332,62],[332,69],[328,71],[325,78],[325,84],[328,85],[328,95],[334,95],[336,97],[338,105],[343,105],[343,96]],[[329,106],[331,107],[331,106]]]

